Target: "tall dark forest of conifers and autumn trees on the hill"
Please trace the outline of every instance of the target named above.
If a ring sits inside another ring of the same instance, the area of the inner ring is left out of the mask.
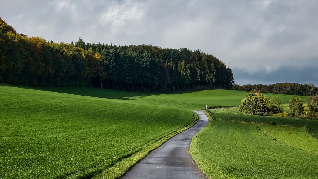
[[[151,45],[47,42],[0,18],[0,82],[29,86],[97,86],[131,91],[231,88],[230,67],[199,49]]]

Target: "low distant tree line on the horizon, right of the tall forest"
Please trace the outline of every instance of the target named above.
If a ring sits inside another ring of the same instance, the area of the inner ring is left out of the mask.
[[[275,93],[286,95],[303,95],[303,96],[315,96],[318,94],[318,88],[313,83],[298,84],[298,83],[276,83],[276,84],[234,84],[232,89],[241,91],[251,91],[252,89],[258,89],[262,93]]]

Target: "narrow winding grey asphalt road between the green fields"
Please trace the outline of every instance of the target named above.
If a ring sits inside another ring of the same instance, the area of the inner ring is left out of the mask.
[[[203,111],[195,111],[199,120],[191,128],[173,136],[126,172],[122,179],[207,178],[189,154],[192,137],[208,123]]]

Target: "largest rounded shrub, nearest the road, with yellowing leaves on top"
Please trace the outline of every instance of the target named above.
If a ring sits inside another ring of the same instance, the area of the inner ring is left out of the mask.
[[[239,111],[245,114],[268,116],[270,110],[266,106],[267,103],[268,99],[261,93],[250,92],[241,100]]]

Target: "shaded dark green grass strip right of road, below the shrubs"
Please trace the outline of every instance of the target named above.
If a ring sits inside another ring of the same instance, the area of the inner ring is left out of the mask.
[[[213,112],[213,111],[212,111]],[[308,127],[315,137],[318,137],[318,120],[313,119],[298,119],[298,118],[280,118],[271,116],[256,116],[247,114],[229,114],[222,112],[213,112],[215,119],[242,121],[242,122],[256,122],[270,124],[273,121],[277,125],[290,125],[295,127]]]

